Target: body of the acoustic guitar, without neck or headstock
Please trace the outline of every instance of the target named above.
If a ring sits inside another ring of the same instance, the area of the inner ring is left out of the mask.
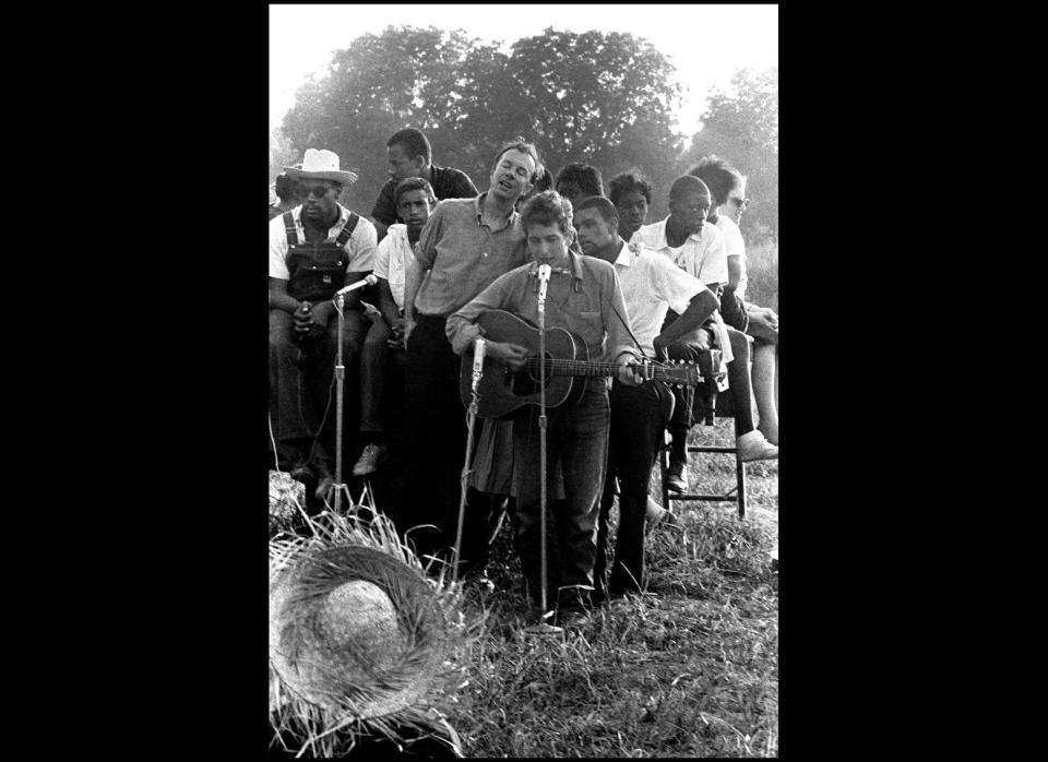
[[[528,354],[538,356],[538,329],[526,320],[502,310],[492,310],[480,315],[477,324],[484,329],[485,338],[492,342],[520,344]],[[557,360],[588,360],[584,342],[576,340],[564,329],[546,328],[546,358]],[[462,359],[458,391],[466,407],[473,402],[473,349]],[[546,373],[546,407],[571,406],[579,401],[586,388],[586,379]],[[540,403],[539,378],[527,368],[513,371],[498,360],[484,358],[484,376],[477,386],[477,416],[501,418],[524,405]]]

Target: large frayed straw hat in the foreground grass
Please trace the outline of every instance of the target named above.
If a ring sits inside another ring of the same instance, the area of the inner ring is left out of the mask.
[[[361,736],[439,738],[454,596],[431,582],[392,523],[325,512],[311,538],[270,541],[271,713],[278,743],[340,755]],[[445,611],[448,609],[448,611]],[[461,616],[452,618],[461,622]]]

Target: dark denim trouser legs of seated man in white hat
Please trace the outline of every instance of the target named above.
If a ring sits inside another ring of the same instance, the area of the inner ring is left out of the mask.
[[[350,374],[348,369],[356,369],[365,319],[358,310],[346,310],[344,314],[343,365],[347,368],[346,378],[353,379],[356,374]],[[305,455],[314,441],[322,450],[333,451],[337,341],[337,312],[332,312],[324,335],[299,344],[295,341],[295,319],[290,313],[270,310],[270,416],[282,459]],[[307,345],[311,345],[309,361],[305,369],[299,369],[296,361],[300,347]],[[347,389],[346,398],[356,400],[356,392]]]

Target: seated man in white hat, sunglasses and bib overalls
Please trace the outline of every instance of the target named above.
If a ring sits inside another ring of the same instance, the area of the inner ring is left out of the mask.
[[[323,499],[333,484],[332,376],[338,320],[332,297],[371,271],[374,226],[337,201],[356,174],[338,168],[332,151],[308,148],[298,182],[301,206],[270,221],[270,415],[277,464]],[[345,297],[343,364],[357,378],[365,332],[358,291]],[[346,390],[347,400],[356,400]]]

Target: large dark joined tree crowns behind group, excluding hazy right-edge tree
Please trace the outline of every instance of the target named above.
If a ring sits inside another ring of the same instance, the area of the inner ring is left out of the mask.
[[[607,179],[631,167],[671,179],[681,88],[650,43],[547,28],[509,56],[499,47],[432,27],[366,34],[299,88],[284,133],[299,156],[338,153],[360,175],[348,199],[365,214],[386,179],[385,141],[408,126],[426,132],[438,164],[465,170],[481,190],[514,135],[534,141],[553,172],[586,162]]]

